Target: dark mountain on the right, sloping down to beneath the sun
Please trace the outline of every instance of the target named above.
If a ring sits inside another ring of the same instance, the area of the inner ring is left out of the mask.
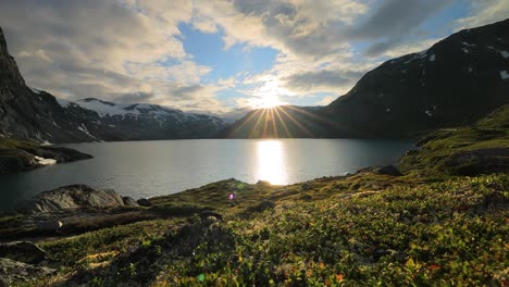
[[[327,107],[253,111],[224,135],[411,136],[473,123],[506,103],[509,20],[461,30],[425,51],[389,60]]]

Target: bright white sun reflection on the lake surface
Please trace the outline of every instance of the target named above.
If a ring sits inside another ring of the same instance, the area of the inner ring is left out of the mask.
[[[285,151],[278,140],[257,142],[258,179],[273,185],[288,184],[285,169]]]

